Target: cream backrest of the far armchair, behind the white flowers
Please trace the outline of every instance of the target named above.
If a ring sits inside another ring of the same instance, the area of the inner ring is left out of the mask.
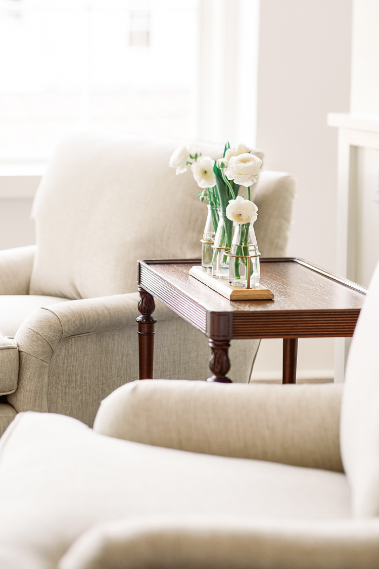
[[[81,299],[134,292],[138,258],[201,255],[207,208],[195,197],[199,188],[190,169],[176,176],[169,168],[176,146],[114,133],[80,134],[60,143],[33,207],[37,250],[30,294]],[[213,158],[222,155],[217,145],[199,149]],[[264,236],[262,253],[274,256],[287,244],[289,221],[283,208],[273,215],[268,208],[274,211],[284,199],[291,211],[294,182],[288,178],[279,197],[280,176],[263,176],[270,183],[259,182],[257,202],[265,204],[260,213],[268,226],[263,230],[258,222],[257,233]]]

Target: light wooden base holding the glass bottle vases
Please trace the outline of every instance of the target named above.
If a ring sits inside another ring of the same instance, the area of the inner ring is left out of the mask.
[[[189,274],[229,300],[270,300],[274,298],[274,293],[262,284],[254,288],[231,286],[227,279],[215,279],[210,272],[199,266],[191,267]]]

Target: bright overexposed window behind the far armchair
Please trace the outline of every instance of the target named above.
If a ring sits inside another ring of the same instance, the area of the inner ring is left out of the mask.
[[[0,0],[0,160],[83,126],[193,137],[197,0]]]

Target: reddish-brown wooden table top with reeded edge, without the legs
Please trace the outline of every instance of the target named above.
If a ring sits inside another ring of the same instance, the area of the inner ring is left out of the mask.
[[[268,258],[260,259],[260,281],[275,298],[228,300],[189,275],[194,265],[200,259],[138,261],[138,284],[208,335],[209,320],[223,314],[230,337],[351,336],[366,294],[303,259]]]

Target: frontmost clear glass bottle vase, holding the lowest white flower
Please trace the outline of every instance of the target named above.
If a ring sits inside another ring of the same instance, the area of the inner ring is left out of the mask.
[[[254,222],[236,224],[230,248],[229,283],[232,286],[253,288],[259,284],[259,251]],[[248,270],[250,266],[250,271]],[[250,272],[250,279],[248,273]]]

